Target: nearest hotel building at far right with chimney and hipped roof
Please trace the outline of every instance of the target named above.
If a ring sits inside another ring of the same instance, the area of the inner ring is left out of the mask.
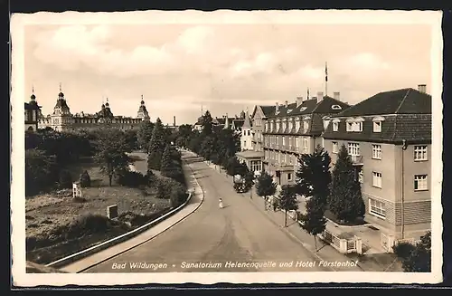
[[[325,122],[325,149],[335,163],[344,145],[361,183],[365,220],[381,245],[419,239],[431,221],[431,96],[425,85],[378,93]]]

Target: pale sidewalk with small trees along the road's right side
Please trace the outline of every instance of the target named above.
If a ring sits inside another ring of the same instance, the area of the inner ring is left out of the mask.
[[[204,163],[211,167],[212,169],[215,169],[218,174],[221,174],[225,179],[231,183],[232,186],[232,179],[230,176],[226,175],[224,170],[221,170],[221,173],[219,172],[218,166],[215,166],[213,164],[207,163],[204,161]],[[343,253],[339,253],[329,244],[325,244],[320,241],[320,239],[317,238],[317,252],[315,252],[315,241],[314,236],[307,234],[300,225],[294,221],[292,218],[290,218],[287,215],[287,227],[284,227],[284,212],[277,211],[274,212],[273,208],[271,208],[271,205],[268,205],[268,211],[264,208],[264,199],[262,197],[259,197],[256,194],[256,190],[253,187],[252,188],[252,198],[250,197],[250,192],[241,194],[244,198],[247,198],[252,205],[254,205],[256,208],[258,208],[262,213],[268,216],[268,219],[271,220],[274,224],[277,224],[284,232],[286,232],[291,237],[295,238],[297,241],[299,241],[308,251],[315,253],[317,257],[319,257],[320,260],[324,260],[326,262],[339,262],[339,263],[345,263],[345,262],[351,262],[352,260],[345,256]],[[354,260],[353,260],[354,262]],[[344,267],[334,267],[335,271],[338,272],[363,272],[363,268],[359,266],[359,262],[357,266],[351,267],[351,266],[344,266]]]

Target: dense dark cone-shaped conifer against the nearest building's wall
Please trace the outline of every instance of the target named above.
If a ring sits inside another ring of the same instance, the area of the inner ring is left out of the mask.
[[[334,166],[328,206],[330,211],[344,222],[354,222],[365,214],[361,185],[344,145],[339,150]]]

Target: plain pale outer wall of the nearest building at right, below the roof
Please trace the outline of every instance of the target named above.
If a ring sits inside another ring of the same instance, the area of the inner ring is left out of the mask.
[[[404,174],[402,177],[401,166],[401,146],[384,143],[372,143],[363,141],[330,140],[324,139],[325,149],[332,160],[332,168],[337,159],[337,153],[333,152],[333,143],[338,144],[338,148],[344,144],[348,147],[349,142],[358,143],[360,155],[363,157],[363,178],[362,194],[364,205],[366,206],[365,219],[369,223],[376,224],[384,232],[395,234],[401,237],[404,224],[405,237],[407,235],[419,236],[429,228],[431,220],[431,197],[430,190],[415,191],[414,175],[429,175],[430,166],[428,161],[415,162],[414,148],[410,147],[404,152]],[[372,158],[372,145],[381,146],[381,159]],[[428,146],[429,151],[429,146]],[[430,155],[428,154],[428,159]],[[372,172],[381,173],[381,187],[372,185]],[[404,202],[402,221],[402,178],[404,179]],[[430,188],[428,178],[428,188]],[[384,204],[385,217],[370,213],[370,199]]]

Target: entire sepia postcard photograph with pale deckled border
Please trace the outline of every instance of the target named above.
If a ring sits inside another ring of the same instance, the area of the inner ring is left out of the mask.
[[[16,286],[442,281],[440,12],[40,12],[11,36]]]

